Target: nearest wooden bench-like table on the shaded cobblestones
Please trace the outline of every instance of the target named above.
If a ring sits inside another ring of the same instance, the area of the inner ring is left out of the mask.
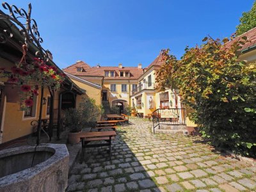
[[[102,131],[102,132],[81,132],[79,134],[82,148],[83,148],[83,156],[85,153],[85,148],[90,147],[102,147],[109,146],[109,154],[111,152],[111,140],[115,139],[116,132],[115,131]],[[92,141],[106,141],[106,143],[98,143],[88,145]]]

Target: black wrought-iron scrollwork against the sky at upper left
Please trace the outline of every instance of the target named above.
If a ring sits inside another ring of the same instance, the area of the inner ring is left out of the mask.
[[[9,11],[9,15],[0,12],[0,43],[4,44],[8,38],[12,38],[12,25],[15,24],[19,28],[20,34],[24,36],[24,44],[29,47],[29,43],[36,44],[40,50],[36,52],[36,56],[44,61],[49,60],[49,53],[40,45],[43,39],[40,37],[35,19],[31,19],[31,3],[28,4],[28,13],[23,8],[17,8],[6,2],[2,3],[5,10]]]

